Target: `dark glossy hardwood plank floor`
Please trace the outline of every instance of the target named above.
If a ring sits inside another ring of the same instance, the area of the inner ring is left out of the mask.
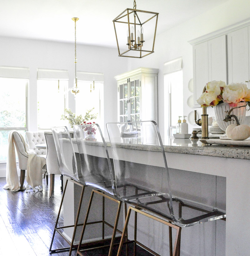
[[[9,189],[3,189],[5,184],[6,179],[0,178],[0,256],[68,255],[68,251],[50,254],[48,249],[62,198],[60,176],[55,175],[55,190],[51,198],[45,179],[42,192],[11,192]],[[61,216],[59,225],[63,224],[63,210]],[[68,243],[56,232],[53,245],[60,248],[68,246]],[[113,255],[116,255],[116,250],[117,246]],[[73,251],[72,256],[75,255],[76,251]],[[86,256],[103,255],[108,255],[107,249],[86,252]],[[128,248],[128,256],[130,255],[133,255],[133,244]],[[152,254],[138,247],[137,255]]]

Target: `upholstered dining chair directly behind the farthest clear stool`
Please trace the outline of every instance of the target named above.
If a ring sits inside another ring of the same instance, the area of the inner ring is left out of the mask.
[[[73,138],[74,132],[70,131],[69,134],[70,137]],[[63,174],[58,167],[57,152],[52,131],[45,131],[44,136],[47,146],[46,167],[48,175],[50,176],[49,197],[51,197],[54,190],[55,174],[61,175],[61,190],[63,191]]]

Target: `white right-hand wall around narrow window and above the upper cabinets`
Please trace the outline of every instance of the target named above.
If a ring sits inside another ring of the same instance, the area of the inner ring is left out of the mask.
[[[187,106],[187,98],[192,94],[188,90],[188,82],[193,77],[192,46],[189,40],[208,34],[218,29],[235,24],[250,18],[249,0],[231,0],[216,8],[207,11],[185,23],[182,23],[164,33],[156,36],[155,52],[142,59],[128,59],[128,69],[137,67],[159,68],[158,73],[158,124],[162,137],[164,136],[164,86],[163,86],[163,64],[166,61],[183,58],[183,113],[188,115],[193,109]],[[160,11],[159,11],[160,13]],[[161,13],[159,14],[158,23]],[[209,81],[207,81],[209,82]],[[239,81],[240,82],[240,81]],[[205,86],[205,85],[204,85]],[[180,88],[181,92],[181,88]],[[201,92],[202,93],[202,92]],[[201,112],[201,110],[199,109]],[[166,129],[166,127],[165,127]],[[189,125],[189,131],[191,127]]]

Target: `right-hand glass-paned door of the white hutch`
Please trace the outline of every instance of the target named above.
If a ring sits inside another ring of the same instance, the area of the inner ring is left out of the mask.
[[[140,80],[130,80],[129,86],[129,106],[131,122],[140,121]]]

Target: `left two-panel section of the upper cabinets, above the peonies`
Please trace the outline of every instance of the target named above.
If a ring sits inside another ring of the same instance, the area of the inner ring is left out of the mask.
[[[193,45],[194,106],[206,83],[217,80],[227,83],[226,35]]]

